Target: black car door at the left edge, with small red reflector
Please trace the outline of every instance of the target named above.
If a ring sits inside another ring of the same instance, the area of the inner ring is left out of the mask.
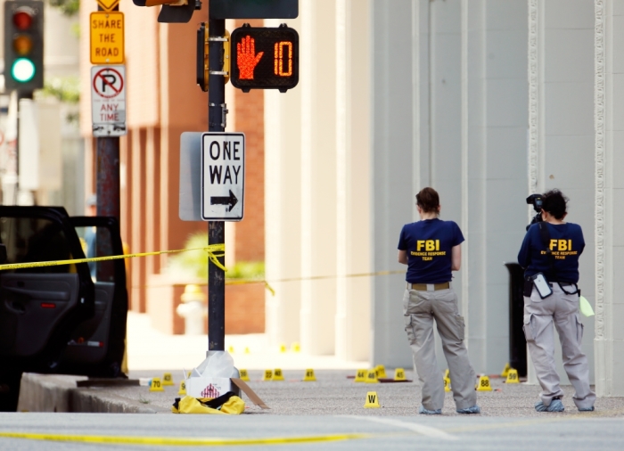
[[[9,264],[84,258],[62,207],[0,206],[0,242]],[[86,263],[0,271],[0,410],[17,405],[21,373],[58,372],[70,332],[93,315]]]

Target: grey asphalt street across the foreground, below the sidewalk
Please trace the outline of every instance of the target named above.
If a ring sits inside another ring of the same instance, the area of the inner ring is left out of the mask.
[[[375,450],[620,450],[624,418],[591,415],[540,418],[272,416],[155,414],[0,414],[0,449],[336,449]],[[5,438],[4,433],[49,434],[46,439]],[[94,443],[82,440],[91,437]],[[62,439],[65,441],[53,441]],[[116,443],[101,443],[103,439]],[[152,439],[137,445],[131,439]],[[168,445],[159,440],[168,439]],[[192,440],[196,440],[193,444]],[[280,440],[300,440],[300,443]],[[99,441],[98,441],[99,440]],[[248,440],[241,445],[242,440]],[[262,443],[268,440],[268,443]],[[273,440],[273,441],[271,441]],[[278,443],[275,443],[277,441]]]

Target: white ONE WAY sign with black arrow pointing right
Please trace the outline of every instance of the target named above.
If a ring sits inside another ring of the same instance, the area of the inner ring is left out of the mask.
[[[201,135],[201,218],[240,221],[245,197],[245,135]]]

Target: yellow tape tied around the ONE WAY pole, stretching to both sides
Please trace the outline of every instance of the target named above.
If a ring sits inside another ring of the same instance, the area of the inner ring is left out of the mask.
[[[210,244],[209,246],[202,248],[189,248],[189,249],[178,249],[178,250],[156,250],[153,252],[138,252],[134,254],[125,254],[125,255],[111,255],[107,257],[91,257],[91,258],[72,258],[67,260],[52,260],[52,261],[37,261],[31,263],[9,263],[6,265],[0,265],[0,271],[5,271],[9,269],[22,269],[29,267],[44,267],[44,266],[62,266],[62,265],[75,265],[77,263],[90,263],[95,261],[108,261],[108,260],[119,260],[123,258],[136,258],[136,257],[151,257],[155,255],[162,254],[173,254],[177,252],[186,252],[189,250],[205,250],[208,252],[208,258],[212,263],[217,265],[219,268],[227,271],[226,266],[223,266],[220,261],[218,261],[219,257],[224,257],[226,255],[226,245],[221,244]],[[341,277],[351,278],[351,277],[370,277],[374,275],[395,275],[395,274],[405,274],[405,270],[400,271],[377,271],[374,273],[359,273],[359,274],[348,274],[348,275],[310,275],[306,277],[287,277],[283,279],[275,279],[275,280],[266,280],[266,279],[226,279],[226,285],[244,285],[249,283],[264,283],[265,287],[268,291],[271,292],[275,296],[275,290],[271,287],[270,283],[285,283],[285,282],[300,282],[300,281],[316,281],[316,280],[326,280],[326,279],[338,279]]]

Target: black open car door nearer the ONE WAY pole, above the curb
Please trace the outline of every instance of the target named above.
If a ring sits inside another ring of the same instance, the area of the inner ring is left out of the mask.
[[[70,217],[87,258],[122,255],[115,217]],[[94,283],[94,316],[71,333],[62,357],[62,373],[97,377],[123,376],[126,349],[126,260],[90,262]]]

